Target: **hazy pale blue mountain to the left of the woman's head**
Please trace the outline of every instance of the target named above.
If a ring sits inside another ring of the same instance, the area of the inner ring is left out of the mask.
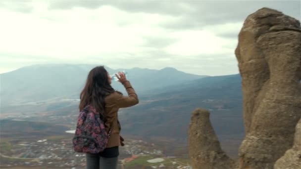
[[[69,97],[83,86],[89,65],[34,65],[1,74],[2,103]]]

